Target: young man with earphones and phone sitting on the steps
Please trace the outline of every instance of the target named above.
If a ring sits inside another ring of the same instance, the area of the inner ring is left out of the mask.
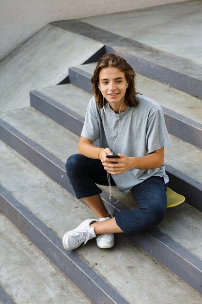
[[[66,162],[67,175],[78,199],[94,211],[99,220],[84,220],[62,239],[73,250],[96,237],[97,246],[111,248],[114,233],[133,236],[160,223],[165,215],[168,176],[164,147],[170,146],[161,107],[135,89],[135,72],[124,58],[103,55],[93,74],[91,99],[78,144],[79,154]],[[100,148],[93,142],[100,140]],[[101,148],[102,147],[102,148]],[[108,158],[117,154],[119,158]],[[111,218],[96,186],[117,186],[131,191],[139,205]]]

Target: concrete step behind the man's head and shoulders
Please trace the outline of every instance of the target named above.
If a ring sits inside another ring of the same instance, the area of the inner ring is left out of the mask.
[[[69,81],[92,92],[91,78],[96,63],[69,68]],[[170,134],[202,149],[202,100],[170,85],[137,74],[137,91],[157,101],[163,108]],[[43,91],[44,93],[46,92]],[[48,89],[47,94],[51,92]]]

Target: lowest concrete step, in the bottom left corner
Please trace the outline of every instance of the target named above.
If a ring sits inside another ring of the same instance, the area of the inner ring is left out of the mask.
[[[92,303],[1,212],[0,223],[0,303]]]

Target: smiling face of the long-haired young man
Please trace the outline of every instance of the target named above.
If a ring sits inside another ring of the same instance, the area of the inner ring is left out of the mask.
[[[127,108],[125,102],[122,103],[127,88],[127,82],[124,72],[119,68],[102,68],[99,73],[98,88],[116,113],[119,113],[120,107],[120,112],[123,112]]]

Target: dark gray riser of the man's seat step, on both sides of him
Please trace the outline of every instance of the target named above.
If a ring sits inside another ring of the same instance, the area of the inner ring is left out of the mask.
[[[15,131],[13,127],[9,127],[6,123],[4,125],[7,125],[7,128],[1,128],[1,139],[74,195],[65,173],[64,164],[26,136]],[[121,203],[116,204],[116,207],[111,205],[108,200],[109,195],[104,192],[102,193],[102,198],[112,214],[124,209]],[[157,228],[139,234],[132,239],[140,248],[144,249],[163,265],[166,265],[168,269],[189,285],[202,292],[202,287],[199,286],[199,282],[202,281],[202,262],[198,258],[188,253],[170,237],[164,236]]]

